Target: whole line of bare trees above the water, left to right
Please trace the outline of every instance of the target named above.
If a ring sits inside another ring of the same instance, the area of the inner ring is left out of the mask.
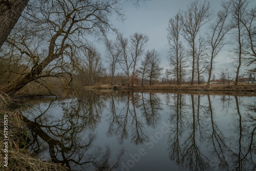
[[[255,72],[256,7],[249,5],[248,0],[227,0],[214,15],[209,2],[196,0],[186,10],[179,10],[167,26],[170,69],[166,76],[174,75],[181,84],[191,66],[190,83],[194,84],[196,76],[200,83],[201,76],[207,74],[209,84],[215,59],[228,44],[227,34],[236,45],[235,84],[242,62]],[[145,79],[152,85],[162,74],[160,54],[155,49],[146,50],[149,37],[143,33],[124,37],[112,25],[113,17],[124,19],[118,0],[29,1],[9,36],[1,37],[5,39],[0,52],[1,91],[12,95],[29,82],[47,86],[49,77],[61,78],[68,85],[80,82],[93,86],[107,71],[90,37],[105,44],[110,84],[122,71],[126,85],[143,85]],[[3,22],[0,24],[2,27]],[[208,32],[203,34],[206,24]],[[110,31],[116,33],[115,40],[108,39]]]

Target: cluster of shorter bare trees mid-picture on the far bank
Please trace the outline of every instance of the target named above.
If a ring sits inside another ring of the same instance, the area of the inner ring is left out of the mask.
[[[161,75],[159,53],[153,49],[144,54],[148,40],[147,35],[134,33],[130,40],[123,35],[118,35],[115,41],[105,41],[106,58],[111,72],[111,85],[113,85],[118,69],[125,73],[128,79],[127,84],[131,83],[132,86],[135,82],[138,84],[139,79],[142,80],[141,85],[143,85],[143,80],[146,78],[150,79],[150,85],[152,85],[152,80]],[[138,67],[139,62],[140,67]]]

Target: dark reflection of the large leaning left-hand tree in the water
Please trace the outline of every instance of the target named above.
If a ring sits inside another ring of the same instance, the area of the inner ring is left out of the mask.
[[[25,118],[32,131],[31,147],[36,152],[49,150],[52,162],[72,169],[113,170],[118,166],[124,150],[120,149],[115,163],[110,163],[111,150],[94,145],[96,132],[104,108],[103,96],[87,92],[76,100],[52,100],[45,111],[40,105],[26,111],[26,116],[39,111],[34,121]],[[58,107],[58,108],[57,108]],[[55,111],[52,111],[54,109]],[[52,112],[60,112],[52,114]],[[55,116],[55,117],[54,117]]]

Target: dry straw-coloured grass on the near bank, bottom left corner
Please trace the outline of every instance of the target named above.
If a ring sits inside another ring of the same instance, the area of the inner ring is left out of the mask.
[[[29,152],[29,130],[23,121],[23,116],[19,113],[19,106],[8,97],[1,95],[0,105],[1,170],[70,170],[59,164],[51,163],[50,159],[40,160],[40,156]],[[8,121],[4,122],[5,120]],[[4,144],[5,139],[8,139],[8,143]]]

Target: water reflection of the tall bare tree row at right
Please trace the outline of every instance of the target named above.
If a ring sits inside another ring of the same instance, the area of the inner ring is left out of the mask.
[[[181,169],[189,170],[255,170],[255,119],[242,114],[239,98],[221,97],[222,111],[227,112],[231,101],[235,101],[234,119],[228,125],[218,125],[221,108],[211,102],[200,104],[200,95],[173,95],[174,103],[169,103],[171,132],[168,139],[168,152],[171,160],[176,161]],[[240,100],[242,101],[242,100]],[[228,105],[224,105],[226,103]],[[216,105],[212,107],[212,104]],[[195,106],[197,105],[197,111]],[[208,105],[208,106],[207,106]],[[244,107],[246,108],[246,104]],[[244,111],[243,111],[244,112]],[[197,116],[196,116],[197,115]],[[234,127],[234,129],[233,129]],[[227,129],[227,130],[225,130]],[[203,131],[202,131],[203,130]],[[230,132],[229,132],[230,131]],[[227,135],[229,132],[229,135]]]

